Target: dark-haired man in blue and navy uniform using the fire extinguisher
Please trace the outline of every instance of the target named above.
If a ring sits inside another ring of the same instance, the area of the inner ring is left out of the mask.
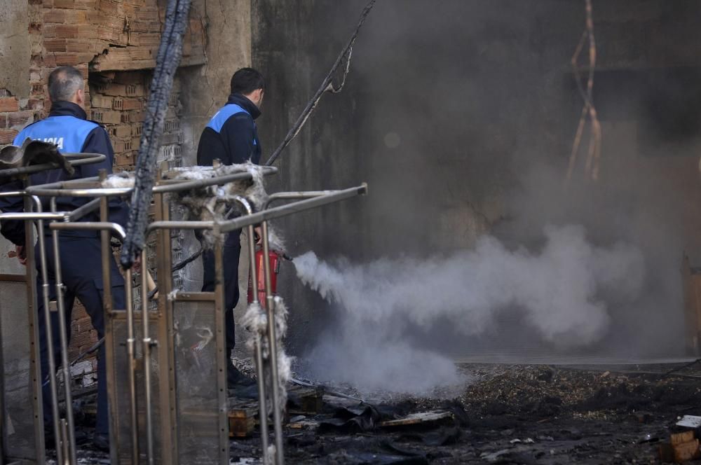
[[[261,158],[261,144],[255,120],[261,115],[265,81],[263,76],[252,68],[242,68],[231,77],[229,100],[215,116],[200,136],[197,147],[197,164],[211,166],[214,160],[224,165],[245,163],[258,164]],[[233,309],[238,303],[238,260],[241,253],[241,231],[233,231],[224,240],[224,313],[226,314],[226,354],[231,356],[235,345]],[[260,233],[258,233],[260,237]],[[202,290],[215,289],[215,258],[212,251],[202,256],[204,279]],[[236,384],[250,384],[250,380],[236,367],[227,370],[229,387]]]

